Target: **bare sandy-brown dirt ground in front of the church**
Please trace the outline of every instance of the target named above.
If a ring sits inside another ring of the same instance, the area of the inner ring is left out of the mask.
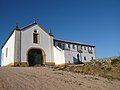
[[[48,67],[2,67],[0,90],[120,90],[120,81]]]

